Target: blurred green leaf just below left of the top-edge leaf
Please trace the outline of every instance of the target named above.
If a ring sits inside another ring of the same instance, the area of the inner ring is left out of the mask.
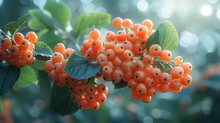
[[[33,9],[30,10],[29,13],[33,18],[28,23],[28,26],[31,28],[42,30],[42,28],[47,27],[49,29],[54,29],[55,24],[49,12],[40,9]]]

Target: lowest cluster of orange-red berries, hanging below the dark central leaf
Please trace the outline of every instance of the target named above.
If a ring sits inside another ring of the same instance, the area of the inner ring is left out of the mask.
[[[72,99],[82,109],[98,110],[100,104],[105,103],[107,100],[108,88],[105,84],[86,85],[86,83],[87,80],[75,80],[70,85]]]

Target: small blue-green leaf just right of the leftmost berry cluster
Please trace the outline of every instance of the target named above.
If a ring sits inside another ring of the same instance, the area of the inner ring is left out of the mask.
[[[45,56],[45,57],[51,57],[53,54],[52,50],[50,49],[47,44],[44,42],[38,41],[35,44],[35,50],[34,50],[34,55],[40,55],[40,56]]]

